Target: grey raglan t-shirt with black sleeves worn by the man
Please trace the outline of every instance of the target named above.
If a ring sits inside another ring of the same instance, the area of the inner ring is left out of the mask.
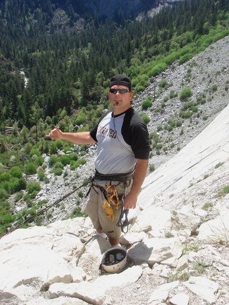
[[[132,107],[115,116],[105,112],[90,135],[98,142],[95,168],[101,174],[128,173],[136,159],[149,159],[149,132]]]

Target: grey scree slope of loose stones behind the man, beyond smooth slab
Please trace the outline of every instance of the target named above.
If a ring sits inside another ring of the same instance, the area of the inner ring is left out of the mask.
[[[228,104],[228,91],[226,88],[228,86],[229,77],[228,65],[225,65],[225,58],[228,56],[229,42],[228,37],[225,37],[210,46],[206,51],[195,56],[190,62],[182,66],[177,65],[173,70],[169,68],[163,75],[158,76],[155,81],[156,91],[159,90],[158,84],[162,79],[167,79],[167,82],[173,82],[173,85],[169,86],[167,89],[163,89],[152,108],[143,111],[141,109],[141,103],[147,96],[154,94],[154,84],[151,84],[138,98],[134,99],[133,107],[139,113],[146,113],[151,118],[150,123],[148,124],[149,132],[157,132],[157,137],[159,139],[158,143],[162,144],[160,149],[154,147],[151,153],[150,164],[155,165],[155,169],[158,169],[162,164],[174,157],[181,148],[202,132]],[[208,63],[208,58],[212,59],[210,63]],[[181,84],[184,82],[187,70],[190,69],[192,63],[196,63],[196,65],[191,68],[189,82],[186,82],[182,86]],[[217,90],[214,92],[212,91],[213,84],[217,85]],[[191,118],[183,119],[182,126],[167,131],[164,129],[164,126],[168,125],[169,119],[172,119],[173,121],[180,120],[179,111],[186,103],[179,98],[184,86],[188,86],[192,89],[192,99],[194,101],[196,101],[196,97],[199,95],[205,94],[206,102],[198,105],[198,111],[194,112]],[[178,97],[169,99],[162,108],[161,104],[163,103],[164,97],[168,96],[173,89],[178,93]],[[160,109],[160,111],[157,111],[156,109]],[[158,126],[162,127],[160,131],[157,131]],[[154,140],[152,140],[152,142],[154,144]],[[164,150],[164,147],[167,147],[167,149]],[[74,145],[73,149],[80,151],[78,145]],[[49,173],[50,168],[47,167],[46,174],[50,178],[50,184],[42,184],[42,190],[37,196],[37,201],[47,199],[49,203],[52,203],[70,192],[73,185],[79,187],[85,178],[89,178],[94,174],[93,159],[95,153],[96,144],[90,145],[87,149],[87,154],[83,156],[87,159],[87,164],[82,165],[73,172],[70,171],[69,166],[66,166],[65,169],[68,173],[66,178],[62,176],[54,177]],[[48,156],[45,156],[46,163],[48,163],[48,158]],[[88,187],[81,190],[86,194]],[[49,223],[56,219],[63,219],[70,215],[76,204],[75,197],[76,195],[73,194],[63,201],[60,208],[53,210],[49,214],[49,219],[46,220],[46,222]],[[84,207],[86,200],[87,198],[77,198],[78,203],[80,203],[79,206],[82,208]],[[20,204],[17,206],[19,209]]]

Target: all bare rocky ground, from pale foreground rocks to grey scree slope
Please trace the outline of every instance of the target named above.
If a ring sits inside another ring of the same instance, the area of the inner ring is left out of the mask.
[[[61,220],[75,207],[73,195],[64,201],[64,208],[52,211],[46,227],[19,229],[1,238],[1,303],[229,303],[228,39],[182,66],[175,65],[156,80],[156,91],[163,78],[173,84],[162,90],[152,111],[145,111],[151,117],[150,132],[169,124],[171,117],[178,120],[186,103],[179,99],[181,83],[190,67],[192,77],[185,85],[191,88],[192,99],[204,93],[206,102],[196,105],[198,111],[193,111],[191,120],[184,119],[182,126],[157,131],[160,143],[164,145],[170,137],[167,145],[175,146],[154,148],[151,163],[156,170],[146,177],[138,199],[140,208],[130,211],[129,232],[121,239],[128,250],[128,268],[119,275],[98,272],[101,254],[109,243],[95,237],[89,218]],[[212,90],[214,84],[216,90]],[[162,112],[155,111],[173,88],[178,97],[166,101]],[[153,94],[151,84],[133,101],[134,108],[142,111],[141,101]],[[93,173],[95,150],[95,145],[88,148],[84,156],[88,162],[77,169],[78,179],[68,167],[67,179],[49,174],[50,184],[43,185],[36,199],[47,198],[51,203],[72,190],[72,184],[80,185]]]

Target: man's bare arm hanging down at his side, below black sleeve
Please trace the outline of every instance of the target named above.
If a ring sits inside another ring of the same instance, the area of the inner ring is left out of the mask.
[[[137,196],[140,193],[141,185],[146,177],[148,164],[148,159],[136,159],[133,184],[129,194],[124,199],[124,209],[136,207]]]

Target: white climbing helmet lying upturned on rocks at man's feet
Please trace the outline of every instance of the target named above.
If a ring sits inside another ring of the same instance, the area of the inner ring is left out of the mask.
[[[122,272],[126,266],[127,251],[123,247],[113,247],[103,253],[100,269],[108,273]]]

